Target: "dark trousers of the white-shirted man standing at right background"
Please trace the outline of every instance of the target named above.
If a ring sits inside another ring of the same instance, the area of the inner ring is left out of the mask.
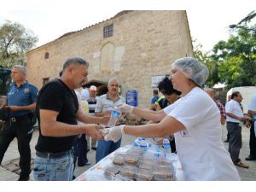
[[[241,149],[241,126],[239,123],[227,122],[227,129],[230,133],[229,152],[234,163],[238,163]]]

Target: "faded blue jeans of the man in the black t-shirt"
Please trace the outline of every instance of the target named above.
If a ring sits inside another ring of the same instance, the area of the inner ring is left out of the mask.
[[[35,181],[72,181],[73,154],[60,158],[42,158],[36,155],[33,177]]]

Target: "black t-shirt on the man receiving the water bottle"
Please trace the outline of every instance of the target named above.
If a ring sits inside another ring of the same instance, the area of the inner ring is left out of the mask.
[[[58,112],[57,121],[69,125],[77,125],[76,114],[79,110],[79,101],[74,90],[70,90],[61,79],[55,79],[45,84],[39,91],[37,102],[39,125],[37,151],[60,153],[71,150],[77,136],[46,137],[41,134],[40,109]]]

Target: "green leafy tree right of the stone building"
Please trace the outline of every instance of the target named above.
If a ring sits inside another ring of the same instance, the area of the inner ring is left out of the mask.
[[[252,12],[231,25],[234,34],[212,49],[212,60],[218,63],[218,78],[228,88],[256,85],[256,25],[248,26],[255,16]]]

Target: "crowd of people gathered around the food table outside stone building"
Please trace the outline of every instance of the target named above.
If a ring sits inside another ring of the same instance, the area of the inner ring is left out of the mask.
[[[117,78],[108,80],[108,93],[96,96],[95,85],[89,89],[84,86],[88,67],[89,63],[82,58],[67,59],[60,78],[44,84],[39,91],[26,81],[26,67],[13,67],[13,83],[7,101],[0,108],[0,118],[4,121],[0,131],[0,163],[16,137],[20,153],[19,180],[30,178],[29,143],[35,123],[34,110],[39,136],[32,174],[38,181],[73,180],[76,165],[90,165],[89,146],[96,150],[97,163],[120,147],[125,134],[154,138],[159,144],[161,138],[168,137],[186,180],[240,180],[236,166],[249,167],[239,158],[241,125],[251,128],[250,154],[246,160],[256,160],[256,95],[249,104],[247,116],[241,108],[240,92],[233,92],[224,107],[215,98],[213,89],[202,89],[209,72],[200,61],[184,57],[173,62],[171,75],[160,82],[159,90],[154,90],[149,109],[125,104],[124,97],[119,95]],[[122,115],[115,126],[108,127],[113,108],[119,108]],[[148,119],[148,124],[125,125],[128,113]],[[221,125],[225,124],[230,136],[228,151],[221,138]],[[102,129],[108,129],[106,136]]]

